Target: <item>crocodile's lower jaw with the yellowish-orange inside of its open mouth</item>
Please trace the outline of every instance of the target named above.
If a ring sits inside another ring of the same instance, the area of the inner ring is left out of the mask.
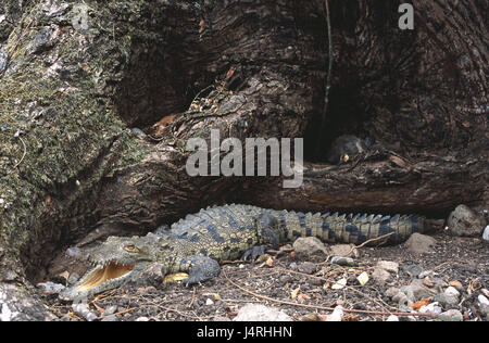
[[[60,298],[73,301],[117,288],[139,269],[138,266],[139,264],[121,264],[114,261],[100,263],[87,271],[75,285],[60,293]]]

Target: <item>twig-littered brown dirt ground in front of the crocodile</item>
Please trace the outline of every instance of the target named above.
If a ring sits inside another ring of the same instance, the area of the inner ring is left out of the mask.
[[[156,287],[122,287],[98,295],[91,300],[89,308],[98,319],[108,318],[104,312],[112,307],[111,313],[115,316],[111,318],[121,321],[206,321],[233,320],[240,307],[259,303],[281,309],[293,320],[324,320],[330,314],[327,307],[341,305],[352,310],[346,313],[343,320],[377,321],[399,313],[398,303],[386,292],[393,287],[410,284],[416,278],[412,272],[417,269],[432,271],[429,278],[436,285],[426,284],[435,293],[442,292],[449,283],[457,285],[460,303],[452,308],[459,309],[464,320],[487,320],[478,309],[477,296],[489,289],[489,246],[480,239],[454,238],[446,233],[434,237],[437,245],[421,255],[411,253],[404,244],[361,247],[355,257],[358,267],[333,265],[323,257],[313,261],[314,268],[311,269],[311,263],[296,258],[288,250],[278,254],[272,252],[267,264],[224,264],[216,279],[201,285],[185,288],[179,282],[167,282]],[[378,261],[399,264],[398,274],[384,284],[373,278]],[[310,267],[305,272],[301,268],[304,263]],[[356,278],[363,271],[369,278],[362,287]],[[333,285],[343,278],[347,285],[335,290]],[[47,301],[60,319],[84,320],[73,312],[71,304],[60,302],[55,295],[50,295]],[[425,301],[429,303],[432,298]],[[435,320],[404,314],[398,317],[400,320]]]

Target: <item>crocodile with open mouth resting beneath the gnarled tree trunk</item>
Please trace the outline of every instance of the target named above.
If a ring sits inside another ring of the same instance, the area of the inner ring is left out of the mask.
[[[90,252],[93,268],[60,297],[70,301],[118,288],[155,262],[166,274],[187,272],[183,284],[190,285],[215,278],[220,262],[254,261],[265,247],[299,237],[359,244],[386,236],[386,243],[396,244],[423,232],[424,227],[425,218],[419,215],[304,214],[251,205],[213,206],[187,215],[167,232],[109,237]]]

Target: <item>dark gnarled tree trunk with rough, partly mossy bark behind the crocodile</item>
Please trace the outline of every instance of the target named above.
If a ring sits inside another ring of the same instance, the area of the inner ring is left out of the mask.
[[[88,29],[73,27],[74,2],[0,1],[8,319],[46,318],[14,301],[30,292],[26,278],[96,228],[143,232],[229,201],[444,213],[489,200],[487,1],[413,1],[415,30],[401,31],[401,1],[331,0],[326,132],[317,132],[328,59],[323,1],[85,2]],[[168,114],[176,117],[158,141],[130,135]],[[310,154],[316,163],[292,190],[271,178],[191,178],[186,142],[211,128],[222,139],[305,137],[308,151],[318,135],[326,151],[348,132],[375,149],[342,166]]]

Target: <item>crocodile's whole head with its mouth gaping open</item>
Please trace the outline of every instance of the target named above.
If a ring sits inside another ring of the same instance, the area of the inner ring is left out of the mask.
[[[60,298],[73,301],[120,287],[131,276],[154,261],[150,237],[109,237],[100,246],[90,251],[93,267],[73,287],[60,293]]]

